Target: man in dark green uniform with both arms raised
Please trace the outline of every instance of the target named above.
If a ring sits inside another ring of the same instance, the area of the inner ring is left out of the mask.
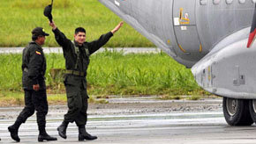
[[[87,124],[87,68],[89,56],[104,46],[115,32],[123,25],[117,25],[111,32],[103,34],[99,40],[86,42],[86,30],[78,27],[75,30],[74,40],[69,40],[63,32],[56,27],[55,23],[49,23],[55,34],[56,42],[63,47],[66,75],[64,85],[67,95],[68,112],[64,115],[64,121],[57,130],[59,135],[66,139],[66,128],[70,122],[76,123],[79,127],[79,140],[95,140],[86,131]]]

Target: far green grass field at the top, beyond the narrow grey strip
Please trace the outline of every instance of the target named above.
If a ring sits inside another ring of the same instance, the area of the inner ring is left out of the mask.
[[[58,47],[43,9],[50,0],[1,0],[0,47],[25,47],[36,26],[44,27],[50,36],[44,47]],[[54,21],[67,38],[73,39],[76,27],[87,29],[87,41],[111,31],[120,21],[113,12],[97,0],[55,0],[52,11]],[[154,44],[124,24],[105,47],[154,47]]]

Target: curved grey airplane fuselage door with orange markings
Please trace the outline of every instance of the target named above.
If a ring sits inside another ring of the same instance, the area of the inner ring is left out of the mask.
[[[198,61],[202,47],[196,27],[196,0],[174,0],[173,3],[177,54],[184,55],[184,59],[189,61]]]

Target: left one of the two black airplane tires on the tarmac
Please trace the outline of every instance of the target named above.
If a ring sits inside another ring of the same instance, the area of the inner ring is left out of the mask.
[[[249,100],[223,97],[223,113],[230,126],[251,126]]]

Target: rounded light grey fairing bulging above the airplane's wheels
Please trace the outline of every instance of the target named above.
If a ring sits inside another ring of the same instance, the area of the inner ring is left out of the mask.
[[[256,99],[256,45],[247,39],[207,54],[192,67],[199,85],[215,95]]]

